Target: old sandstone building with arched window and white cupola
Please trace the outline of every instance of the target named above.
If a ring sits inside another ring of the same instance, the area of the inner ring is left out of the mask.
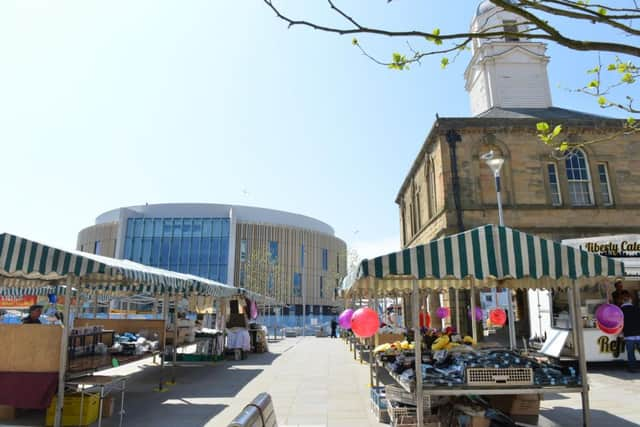
[[[483,1],[472,29],[495,25],[524,29],[520,17]],[[553,106],[544,43],[476,40],[472,52],[473,116],[438,117],[429,131],[396,198],[402,246],[498,223],[494,176],[481,159],[491,150],[505,160],[506,226],[558,241],[638,233],[640,135],[625,136],[625,120]],[[538,122],[561,124],[571,142],[611,140],[554,155],[537,138]],[[439,303],[450,305],[446,293]]]

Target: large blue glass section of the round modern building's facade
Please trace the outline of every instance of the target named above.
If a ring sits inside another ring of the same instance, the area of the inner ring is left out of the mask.
[[[227,283],[229,218],[129,218],[124,258]]]

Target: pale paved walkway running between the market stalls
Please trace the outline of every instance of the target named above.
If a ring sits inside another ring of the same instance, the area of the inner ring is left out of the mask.
[[[177,383],[157,387],[159,370],[142,364],[127,386],[126,427],[225,427],[258,393],[273,397],[280,426],[381,427],[369,411],[369,367],[353,360],[344,341],[295,338],[270,344],[270,353],[238,362],[176,369]],[[116,372],[135,371],[123,366]],[[116,373],[114,372],[114,373]],[[592,425],[640,425],[640,375],[621,367],[590,367]],[[579,394],[546,395],[540,426],[581,426]],[[43,416],[9,425],[42,425]],[[116,416],[103,426],[117,426]],[[3,424],[0,421],[0,425]]]

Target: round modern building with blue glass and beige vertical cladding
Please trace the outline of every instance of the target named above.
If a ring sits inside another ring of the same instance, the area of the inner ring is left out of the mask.
[[[312,315],[329,314],[335,305],[347,250],[332,227],[314,218],[200,203],[105,212],[80,231],[77,249],[245,287],[295,313],[302,312],[304,294]]]

